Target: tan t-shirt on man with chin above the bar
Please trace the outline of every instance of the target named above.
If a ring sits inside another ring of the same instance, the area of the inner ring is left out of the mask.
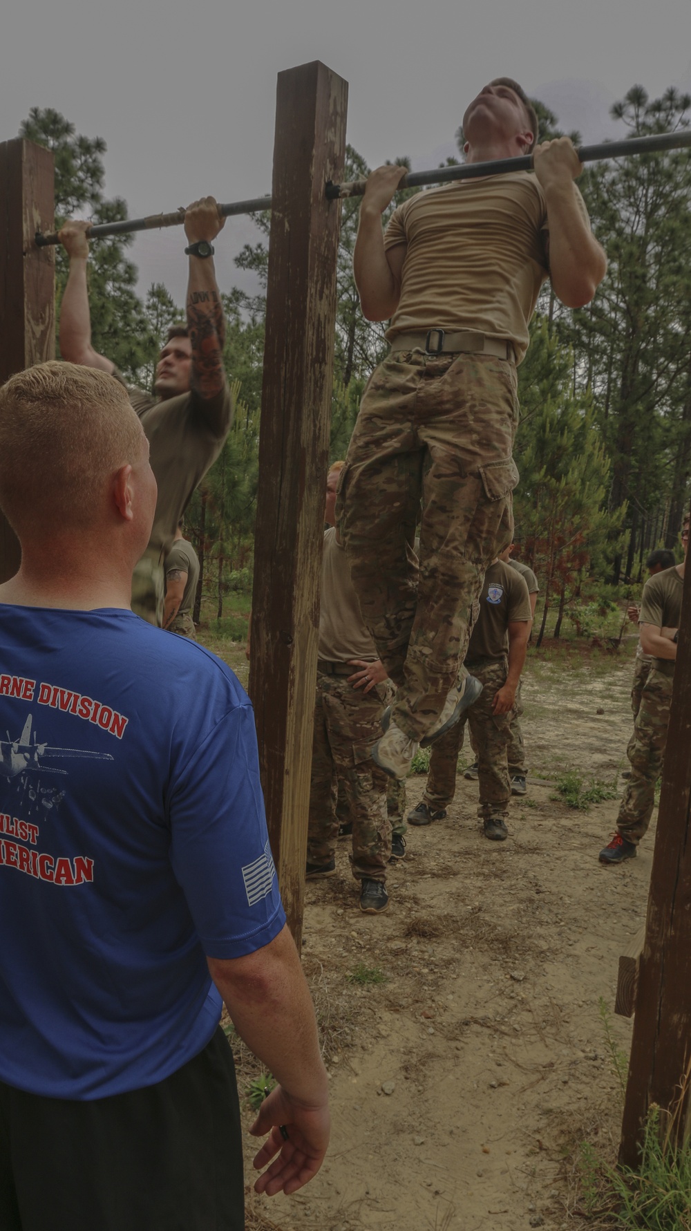
[[[579,201],[585,213],[580,193]],[[387,249],[408,245],[387,339],[435,327],[475,330],[510,339],[520,363],[549,272],[547,236],[547,206],[530,171],[409,197],[384,233]]]

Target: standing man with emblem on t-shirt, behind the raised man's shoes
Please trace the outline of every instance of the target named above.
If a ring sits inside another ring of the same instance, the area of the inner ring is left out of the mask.
[[[458,752],[467,721],[478,756],[478,816],[484,835],[495,842],[507,837],[511,784],[506,748],[530,627],[526,582],[503,560],[495,560],[485,574],[479,616],[466,657],[466,666],[482,682],[483,692],[461,720],[435,740],[425,794],[418,808],[408,814],[411,825],[429,825],[446,816],[456,793]]]

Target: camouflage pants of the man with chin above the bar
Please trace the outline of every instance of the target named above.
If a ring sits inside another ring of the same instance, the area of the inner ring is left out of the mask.
[[[411,739],[442,709],[485,569],[512,534],[517,416],[516,369],[491,356],[392,352],[362,398],[336,519]]]

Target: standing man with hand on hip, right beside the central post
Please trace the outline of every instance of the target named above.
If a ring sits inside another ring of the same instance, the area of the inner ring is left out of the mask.
[[[321,608],[317,702],[309,793],[307,879],[321,880],[336,872],[336,838],[342,810],[336,812],[337,789],[352,824],[351,869],[361,881],[360,908],[381,915],[388,908],[387,863],[392,832],[387,816],[387,778],[373,763],[370,747],[381,732],[381,718],[390,697],[387,672],[377,660],[372,639],[360,614],[345,551],[334,527],[337,464],[329,471],[321,565]],[[399,840],[398,857],[405,854]]]

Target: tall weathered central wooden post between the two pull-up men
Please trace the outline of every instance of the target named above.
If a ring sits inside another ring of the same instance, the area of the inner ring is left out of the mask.
[[[278,74],[249,691],[271,849],[301,945],[347,82]]]

